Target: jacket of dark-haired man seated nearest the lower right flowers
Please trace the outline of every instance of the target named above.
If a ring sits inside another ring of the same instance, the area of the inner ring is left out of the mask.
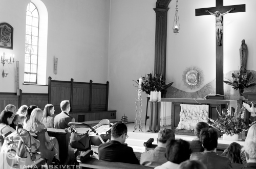
[[[231,162],[227,157],[222,157],[215,152],[192,153],[190,160],[201,161],[207,169],[229,169],[232,168]]]

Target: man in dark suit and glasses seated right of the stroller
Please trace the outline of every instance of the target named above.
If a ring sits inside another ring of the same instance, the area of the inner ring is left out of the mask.
[[[111,141],[100,144],[98,148],[99,160],[140,164],[133,148],[124,144],[126,138],[128,135],[125,124],[115,123],[111,128]]]

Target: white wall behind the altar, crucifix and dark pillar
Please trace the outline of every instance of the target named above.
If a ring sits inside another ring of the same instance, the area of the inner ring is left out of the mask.
[[[117,119],[125,113],[135,119],[136,88],[132,80],[154,70],[155,8],[156,1],[111,0],[110,56],[109,56],[109,109],[117,110]],[[247,69],[255,69],[254,46],[256,1],[225,0],[224,5],[246,4],[246,12],[224,16],[224,74],[237,70],[240,64],[239,47],[242,39],[249,48]],[[215,7],[215,0],[179,0],[178,11],[181,30],[172,31],[176,1],[168,11],[166,82],[173,87],[195,92],[183,85],[183,71],[198,66],[204,74],[205,84],[216,79],[215,17],[195,16],[196,8]],[[146,94],[142,93],[142,121],[145,119]]]

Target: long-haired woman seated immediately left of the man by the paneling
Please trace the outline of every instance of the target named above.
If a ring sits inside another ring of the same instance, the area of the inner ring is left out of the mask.
[[[53,128],[53,117],[54,107],[51,104],[47,104],[44,109],[44,113],[42,114],[42,124],[46,126],[46,128]]]

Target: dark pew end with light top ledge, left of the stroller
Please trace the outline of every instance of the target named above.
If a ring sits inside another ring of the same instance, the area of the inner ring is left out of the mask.
[[[64,129],[47,129],[50,137],[56,137],[59,143],[59,159],[61,164],[74,164],[76,162],[74,149],[69,146],[70,135],[69,131]]]

